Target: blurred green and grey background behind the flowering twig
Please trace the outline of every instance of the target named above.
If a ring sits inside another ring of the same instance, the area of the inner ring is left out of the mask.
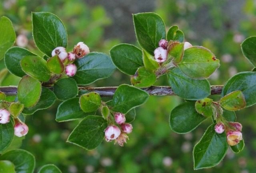
[[[90,51],[104,53],[118,43],[138,45],[131,14],[156,12],[166,26],[178,25],[186,41],[212,50],[221,60],[220,68],[209,79],[211,85],[224,84],[232,75],[252,70],[241,53],[240,43],[256,35],[255,0],[0,0],[0,16],[10,18],[17,36],[21,35],[16,45],[41,55],[32,39],[32,11],[52,12],[63,20],[68,31],[68,51],[84,41]],[[17,85],[20,79],[4,69],[3,61],[0,69],[1,86]],[[90,86],[122,83],[129,84],[129,77],[116,70],[112,77]],[[168,85],[166,77],[156,85]],[[219,96],[212,98],[218,100]],[[92,151],[65,142],[78,121],[57,123],[54,119],[60,102],[56,102],[48,110],[27,116],[28,135],[22,144],[20,138],[15,138],[11,147],[33,153],[36,169],[54,163],[63,173],[256,172],[256,106],[236,112],[237,121],[243,125],[244,150],[238,154],[228,151],[214,168],[193,171],[192,148],[211,122],[204,122],[189,134],[172,132],[169,114],[182,101],[177,96],[151,96],[137,108],[134,129],[124,147],[103,142]]]

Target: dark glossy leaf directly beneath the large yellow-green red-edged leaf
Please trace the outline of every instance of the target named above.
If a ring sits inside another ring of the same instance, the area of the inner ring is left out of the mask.
[[[167,73],[172,90],[187,100],[199,100],[210,95],[210,83],[204,79],[192,79],[186,76],[179,68]]]

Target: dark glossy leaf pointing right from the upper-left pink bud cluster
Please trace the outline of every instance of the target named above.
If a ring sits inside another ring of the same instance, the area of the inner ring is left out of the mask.
[[[75,61],[78,85],[88,85],[99,79],[110,77],[115,70],[110,57],[104,53],[92,52]]]

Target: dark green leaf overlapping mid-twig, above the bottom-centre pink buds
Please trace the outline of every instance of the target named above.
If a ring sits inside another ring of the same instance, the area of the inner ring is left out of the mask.
[[[126,114],[148,100],[148,93],[126,84],[118,86],[112,100],[112,110]]]

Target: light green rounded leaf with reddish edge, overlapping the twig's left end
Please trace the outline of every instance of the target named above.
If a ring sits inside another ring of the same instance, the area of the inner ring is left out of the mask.
[[[32,107],[38,102],[41,90],[41,83],[38,80],[24,76],[18,84],[18,100],[24,107]]]

